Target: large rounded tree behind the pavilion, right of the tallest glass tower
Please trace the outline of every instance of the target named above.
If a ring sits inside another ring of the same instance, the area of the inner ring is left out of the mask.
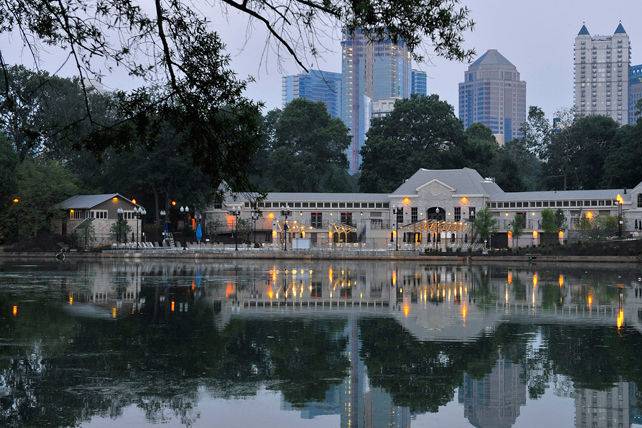
[[[392,192],[419,168],[463,167],[465,140],[453,107],[437,95],[398,100],[390,114],[370,125],[359,188]]]

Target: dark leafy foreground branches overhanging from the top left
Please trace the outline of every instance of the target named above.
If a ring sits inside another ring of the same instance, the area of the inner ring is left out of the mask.
[[[423,40],[446,58],[474,54],[463,47],[462,34],[473,22],[459,0],[221,0],[220,5],[265,26],[276,50],[286,51],[304,69],[319,55],[318,37],[328,22],[348,34],[358,29],[373,40],[403,40],[415,59],[421,59],[417,48]],[[225,179],[239,190],[249,184],[245,166],[260,137],[254,114],[259,106],[243,97],[246,82],[229,68],[225,46],[200,6],[186,0],[155,0],[153,7],[135,0],[9,0],[1,10],[0,32],[20,35],[37,63],[41,44],[69,52],[86,118],[95,131],[84,147],[102,153],[127,144],[129,139],[122,137],[153,127],[149,116],[160,116],[185,134],[185,151],[213,183]],[[90,101],[90,82],[100,80],[101,65],[154,82],[153,89],[117,94],[115,123],[102,123]],[[3,60],[0,68],[6,77]],[[9,101],[2,103],[5,112],[19,104],[10,86],[0,88]]]

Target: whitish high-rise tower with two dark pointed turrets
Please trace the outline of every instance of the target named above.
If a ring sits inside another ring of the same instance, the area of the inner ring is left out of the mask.
[[[582,25],[575,37],[575,110],[629,123],[631,46],[622,23],[612,36],[591,36]]]

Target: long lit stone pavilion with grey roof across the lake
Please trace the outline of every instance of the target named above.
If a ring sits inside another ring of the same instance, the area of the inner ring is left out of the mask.
[[[231,233],[235,219],[230,210],[240,210],[244,221],[259,210],[262,216],[256,232],[277,245],[287,240],[288,247],[293,239],[305,239],[316,247],[358,244],[465,251],[471,244],[476,213],[483,208],[497,222],[495,235],[504,242],[498,241],[497,247],[539,245],[542,212],[548,209],[564,214],[567,226],[561,239],[577,234],[582,219],[620,214],[623,233],[642,237],[642,183],[628,189],[505,192],[492,178],[470,168],[419,169],[389,194],[274,192],[256,201],[253,208],[251,195],[230,193],[206,216],[208,221],[226,225],[226,233]],[[516,218],[525,227],[512,241],[515,237],[509,238],[509,231]]]

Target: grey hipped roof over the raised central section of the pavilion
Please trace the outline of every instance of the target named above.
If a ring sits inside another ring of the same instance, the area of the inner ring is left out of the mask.
[[[456,194],[495,195],[504,191],[493,181],[484,179],[471,168],[420,169],[392,193],[392,196],[416,195],[417,189],[438,181],[455,189]]]

